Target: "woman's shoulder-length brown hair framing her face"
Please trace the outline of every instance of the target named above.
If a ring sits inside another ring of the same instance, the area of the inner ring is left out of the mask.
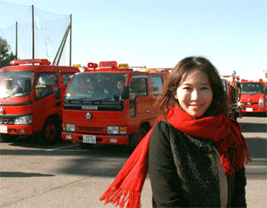
[[[225,114],[228,116],[228,97],[223,89],[223,82],[214,65],[204,57],[187,57],[178,62],[172,72],[167,76],[166,82],[162,86],[162,93],[156,101],[156,108],[159,116],[166,116],[168,108],[172,105],[178,105],[174,99],[177,88],[182,84],[184,77],[191,70],[199,70],[208,77],[212,91],[213,100],[206,113],[203,116],[215,116]]]

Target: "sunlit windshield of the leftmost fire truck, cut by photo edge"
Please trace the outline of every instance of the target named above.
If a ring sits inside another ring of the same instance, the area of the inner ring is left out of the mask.
[[[3,71],[0,73],[0,98],[29,95],[35,77],[32,71]]]

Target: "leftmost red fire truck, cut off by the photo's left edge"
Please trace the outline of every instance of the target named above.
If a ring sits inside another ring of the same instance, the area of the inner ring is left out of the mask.
[[[12,60],[0,69],[0,135],[34,135],[53,142],[61,135],[62,101],[78,68],[49,60]]]

